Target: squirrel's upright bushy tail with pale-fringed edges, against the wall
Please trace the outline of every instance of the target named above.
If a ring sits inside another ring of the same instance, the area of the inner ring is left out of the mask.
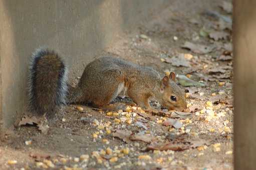
[[[36,50],[31,58],[28,79],[31,111],[54,116],[66,104],[67,75],[67,67],[55,51]]]

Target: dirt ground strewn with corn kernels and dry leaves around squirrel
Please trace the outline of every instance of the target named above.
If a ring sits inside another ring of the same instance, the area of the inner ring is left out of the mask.
[[[229,5],[176,0],[118,35],[101,53],[151,66],[162,75],[175,71],[182,85],[189,85],[182,75],[194,80],[183,86],[192,114],[174,116],[154,100],[152,106],[163,111],[68,105],[63,117],[48,123],[46,134],[28,124],[8,130],[0,142],[0,169],[233,169]]]

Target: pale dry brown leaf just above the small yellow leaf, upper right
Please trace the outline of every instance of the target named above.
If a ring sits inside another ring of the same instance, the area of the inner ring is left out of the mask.
[[[191,51],[199,54],[205,54],[209,53],[214,49],[214,46],[206,46],[206,45],[201,45],[201,44],[194,44],[192,42],[186,41],[182,48],[187,48],[190,49]]]

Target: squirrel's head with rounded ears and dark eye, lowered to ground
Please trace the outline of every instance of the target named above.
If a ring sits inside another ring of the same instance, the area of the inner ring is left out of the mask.
[[[161,80],[158,101],[169,110],[183,111],[187,108],[185,91],[182,90],[176,81],[176,75],[171,72]]]

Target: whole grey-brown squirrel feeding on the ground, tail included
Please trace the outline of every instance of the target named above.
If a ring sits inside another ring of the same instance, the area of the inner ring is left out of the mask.
[[[85,67],[76,87],[68,84],[67,74],[65,62],[54,50],[42,48],[33,53],[28,81],[31,111],[51,117],[67,103],[113,109],[109,103],[121,92],[144,109],[151,109],[150,97],[169,110],[187,108],[185,91],[175,82],[174,72],[161,77],[153,68],[105,56]]]

